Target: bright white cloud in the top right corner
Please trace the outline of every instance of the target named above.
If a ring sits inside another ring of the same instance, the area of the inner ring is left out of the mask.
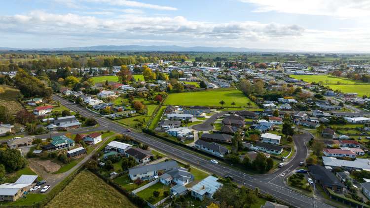
[[[258,6],[255,12],[325,15],[341,18],[370,16],[369,0],[240,0]]]

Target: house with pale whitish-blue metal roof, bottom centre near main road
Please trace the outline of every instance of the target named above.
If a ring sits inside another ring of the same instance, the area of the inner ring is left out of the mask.
[[[222,183],[215,176],[208,176],[190,188],[191,196],[203,201],[204,198],[212,199],[213,195],[222,188]]]

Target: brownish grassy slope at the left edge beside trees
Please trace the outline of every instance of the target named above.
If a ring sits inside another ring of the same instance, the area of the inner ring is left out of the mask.
[[[0,85],[0,87],[5,90],[3,93],[0,93],[0,105],[7,107],[14,114],[22,110],[23,107],[17,100],[19,90],[6,85]]]

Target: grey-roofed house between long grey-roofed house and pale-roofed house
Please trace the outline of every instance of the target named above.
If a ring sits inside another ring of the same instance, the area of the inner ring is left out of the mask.
[[[165,172],[159,178],[160,182],[165,185],[176,183],[178,185],[185,186],[194,180],[194,175],[188,172],[184,167],[177,167]]]

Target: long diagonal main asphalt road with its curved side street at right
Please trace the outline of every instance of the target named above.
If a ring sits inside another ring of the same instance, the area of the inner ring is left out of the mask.
[[[302,161],[302,158],[304,159],[306,157],[307,152],[304,152],[303,150],[306,149],[304,147],[304,141],[301,141],[302,139],[300,138],[294,140],[294,142],[297,145],[297,148],[299,149],[297,149],[297,153],[292,159],[291,163],[289,163],[287,166],[284,166],[283,168],[280,168],[279,170],[275,171],[272,174],[252,176],[242,171],[236,170],[234,168],[230,168],[229,166],[226,166],[224,163],[219,164],[210,163],[208,159],[204,159],[203,157],[198,156],[195,152],[191,153],[179,146],[167,143],[163,140],[149,136],[147,134],[132,131],[129,132],[123,126],[117,125],[116,123],[108,119],[98,117],[92,112],[80,106],[74,105],[73,103],[71,103],[68,100],[65,100],[62,97],[54,95],[53,99],[59,101],[61,104],[65,105],[66,107],[70,108],[73,111],[78,111],[82,116],[94,117],[99,122],[100,125],[106,126],[110,130],[113,130],[117,133],[127,134],[140,142],[148,144],[150,147],[153,147],[154,149],[157,149],[169,156],[173,156],[182,161],[185,161],[186,163],[189,163],[193,166],[199,166],[199,168],[202,168],[210,173],[215,173],[221,176],[231,175],[234,178],[234,182],[240,185],[244,184],[245,186],[252,189],[258,187],[261,193],[270,194],[295,207],[308,208],[311,207],[312,205],[312,198],[273,183],[279,177],[281,177],[282,179],[283,178],[282,174],[285,175],[285,173],[293,171],[299,165],[299,162]],[[303,140],[305,139],[303,138]],[[302,148],[302,145],[304,148]],[[301,149],[303,150],[303,152],[301,151]],[[315,204],[319,208],[332,208],[332,206],[329,206],[321,202],[316,202]]]

